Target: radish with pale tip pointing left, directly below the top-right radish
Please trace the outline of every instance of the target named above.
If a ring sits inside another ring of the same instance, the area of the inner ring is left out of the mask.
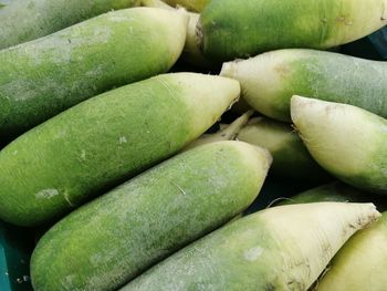
[[[291,121],[297,94],[348,103],[387,117],[387,64],[303,49],[279,50],[224,63],[221,75],[241,83],[243,98],[257,111]]]

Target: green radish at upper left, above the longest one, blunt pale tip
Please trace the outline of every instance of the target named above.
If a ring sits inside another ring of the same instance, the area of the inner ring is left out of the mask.
[[[0,139],[115,86],[167,72],[187,24],[185,11],[133,8],[0,51]]]

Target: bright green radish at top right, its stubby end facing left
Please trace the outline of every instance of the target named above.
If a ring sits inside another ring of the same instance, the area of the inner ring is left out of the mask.
[[[212,0],[198,35],[206,56],[229,61],[285,48],[328,49],[386,23],[386,0]]]

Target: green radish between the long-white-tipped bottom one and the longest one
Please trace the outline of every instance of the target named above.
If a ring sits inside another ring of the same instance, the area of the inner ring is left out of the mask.
[[[220,142],[143,173],[43,236],[32,254],[34,289],[116,289],[243,211],[270,160],[265,149]]]

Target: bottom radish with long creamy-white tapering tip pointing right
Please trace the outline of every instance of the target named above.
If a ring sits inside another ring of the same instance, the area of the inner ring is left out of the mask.
[[[121,290],[307,290],[345,241],[379,216],[372,204],[269,208],[203,237]]]

